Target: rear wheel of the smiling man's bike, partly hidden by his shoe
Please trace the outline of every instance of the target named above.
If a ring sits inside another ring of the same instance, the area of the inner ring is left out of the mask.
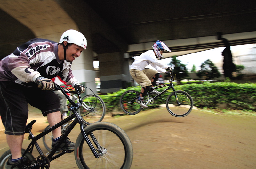
[[[21,153],[23,154],[26,150],[25,149],[21,149]],[[29,164],[34,164],[35,163],[35,158],[34,156],[30,153],[27,152],[25,154],[25,156],[27,157],[28,163]],[[8,159],[12,157],[12,153],[11,150],[7,150],[4,152],[4,154],[0,157],[0,169],[5,169],[5,164],[8,161]]]

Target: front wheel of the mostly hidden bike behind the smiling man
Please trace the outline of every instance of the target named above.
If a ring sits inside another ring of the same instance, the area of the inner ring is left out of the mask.
[[[90,111],[87,111],[83,106],[78,109],[79,115],[85,124],[89,125],[95,122],[101,122],[106,113],[106,106],[104,101],[98,95],[85,95],[82,98],[87,106],[90,107]]]

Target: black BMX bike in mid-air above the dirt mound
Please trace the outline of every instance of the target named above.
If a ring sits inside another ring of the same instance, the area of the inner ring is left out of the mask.
[[[144,96],[144,100],[146,102],[146,105],[148,106],[152,105],[154,103],[154,100],[156,100],[157,97],[159,97],[164,92],[167,92],[169,89],[172,88],[173,92],[170,95],[168,95],[165,102],[168,112],[175,117],[187,116],[193,108],[193,99],[185,91],[182,91],[182,90],[175,91],[172,81],[175,80],[176,75],[173,74],[172,71],[170,73],[171,74],[170,74],[169,84],[163,84],[151,89],[154,90],[154,89],[163,88],[163,87],[167,87],[167,88],[162,90],[158,95],[155,95],[154,97],[150,97],[149,93],[147,92],[146,96]],[[121,106],[121,109],[126,114],[135,115],[143,109],[140,106],[140,104],[136,102],[136,100],[139,98],[139,95],[140,93],[136,90],[127,90],[122,94],[122,96],[120,97],[120,106]]]

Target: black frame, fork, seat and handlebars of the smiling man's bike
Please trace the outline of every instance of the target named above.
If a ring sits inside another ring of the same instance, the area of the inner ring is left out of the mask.
[[[40,155],[43,155],[43,151],[41,150],[41,148],[39,147],[37,140],[39,140],[40,138],[42,138],[44,135],[52,132],[53,130],[57,129],[58,127],[62,126],[63,124],[67,123],[68,121],[72,120],[73,118],[75,118],[73,120],[73,122],[67,127],[67,129],[64,131],[64,133],[61,135],[60,139],[58,140],[57,144],[55,144],[55,146],[53,147],[53,149],[46,154],[47,158],[52,161],[56,158],[59,158],[60,156],[66,154],[66,153],[71,153],[74,150],[63,150],[60,154],[57,154],[55,156],[53,156],[55,154],[55,152],[57,151],[57,149],[60,147],[60,145],[64,142],[64,140],[67,138],[68,134],[71,132],[71,130],[75,127],[75,125],[77,123],[80,124],[80,130],[82,135],[84,136],[84,139],[86,141],[86,143],[88,144],[88,146],[90,147],[93,155],[95,156],[95,158],[99,158],[99,154],[97,151],[99,151],[99,153],[101,153],[101,148],[99,143],[97,142],[96,138],[94,137],[94,135],[91,133],[90,137],[92,138],[94,144],[96,145],[97,149],[94,148],[94,146],[92,145],[91,141],[89,140],[88,136],[86,135],[84,128],[87,126],[86,124],[83,123],[81,116],[79,115],[77,109],[79,109],[81,107],[81,96],[80,93],[78,91],[65,91],[63,88],[61,88],[59,85],[57,85],[56,90],[60,90],[68,99],[68,101],[72,104],[70,107],[70,111],[72,111],[72,115],[70,115],[69,117],[67,117],[66,119],[60,121],[59,123],[55,124],[54,126],[50,127],[48,130],[43,131],[42,133],[38,134],[37,136],[34,136],[31,132],[32,129],[32,125],[36,122],[36,120],[32,120],[27,126],[26,126],[26,133],[29,133],[29,140],[32,139],[31,143],[28,145],[28,148],[26,149],[26,151],[23,153],[22,157],[24,157],[24,155],[29,151],[30,153],[32,153],[34,146],[36,147],[37,151],[39,152]],[[79,102],[74,103],[66,93],[73,93],[73,94],[77,94],[78,95],[78,99]],[[34,165],[31,168],[38,168],[39,164]]]

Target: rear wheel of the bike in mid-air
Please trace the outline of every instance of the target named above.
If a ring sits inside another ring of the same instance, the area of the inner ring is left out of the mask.
[[[140,95],[136,90],[127,90],[120,97],[120,107],[124,113],[128,115],[135,115],[139,113],[143,108],[135,99]],[[133,100],[133,101],[132,101]],[[132,101],[132,102],[131,102]]]

